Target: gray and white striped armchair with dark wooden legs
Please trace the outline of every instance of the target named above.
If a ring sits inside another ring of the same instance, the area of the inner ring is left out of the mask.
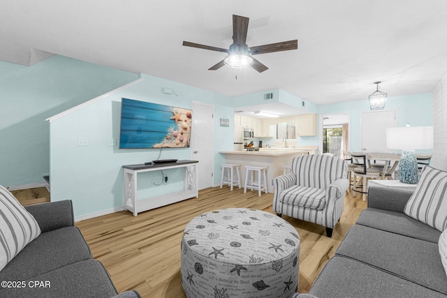
[[[273,211],[323,225],[332,237],[349,188],[347,173],[341,158],[319,154],[293,158],[292,172],[272,180]]]

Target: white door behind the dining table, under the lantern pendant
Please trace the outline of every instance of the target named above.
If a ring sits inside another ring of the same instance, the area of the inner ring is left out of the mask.
[[[362,112],[362,151],[392,151],[386,147],[386,128],[395,126],[395,110]]]

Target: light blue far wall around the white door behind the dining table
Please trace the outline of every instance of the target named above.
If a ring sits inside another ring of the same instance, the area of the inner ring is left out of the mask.
[[[385,110],[395,110],[397,126],[432,126],[432,94],[413,94],[408,96],[392,96],[386,101]],[[361,116],[369,112],[369,101],[358,100],[349,103],[321,105],[319,114],[349,114],[349,143],[352,151],[361,150]],[[318,141],[317,143],[318,144]]]

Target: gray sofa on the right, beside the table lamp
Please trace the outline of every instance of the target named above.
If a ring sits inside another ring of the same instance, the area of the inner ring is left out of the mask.
[[[367,209],[309,294],[294,297],[447,297],[441,232],[403,213],[411,193],[370,187]]]

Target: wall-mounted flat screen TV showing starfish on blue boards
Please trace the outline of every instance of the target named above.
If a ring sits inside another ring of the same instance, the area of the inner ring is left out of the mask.
[[[120,149],[188,148],[192,110],[122,98]]]

